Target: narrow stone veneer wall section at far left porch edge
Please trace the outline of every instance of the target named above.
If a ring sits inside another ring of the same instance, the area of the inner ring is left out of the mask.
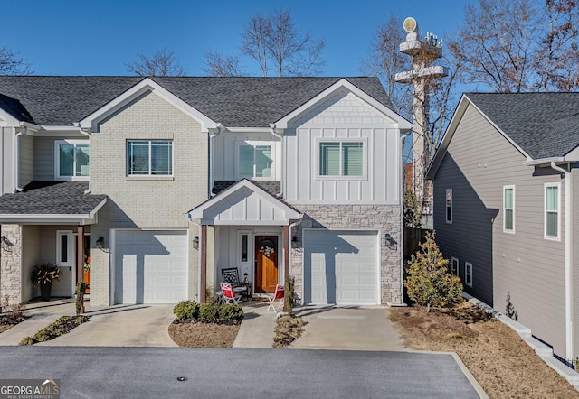
[[[22,253],[20,226],[2,225],[0,233],[12,243],[12,246],[3,246],[0,249],[0,300],[4,303],[7,299],[9,305],[15,305],[22,302],[20,292],[20,255]]]

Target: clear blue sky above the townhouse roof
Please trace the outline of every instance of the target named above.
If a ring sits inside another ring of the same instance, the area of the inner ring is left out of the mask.
[[[0,46],[33,64],[36,75],[128,75],[139,52],[174,51],[192,76],[203,53],[238,53],[252,14],[289,9],[300,31],[324,38],[324,76],[358,76],[378,26],[390,14],[413,16],[421,34],[447,37],[472,1],[425,0],[0,0]],[[8,16],[8,17],[6,17]],[[252,63],[242,60],[244,70]]]

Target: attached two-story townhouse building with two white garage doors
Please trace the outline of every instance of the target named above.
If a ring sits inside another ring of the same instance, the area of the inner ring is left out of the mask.
[[[0,77],[0,296],[400,303],[410,128],[375,78]]]

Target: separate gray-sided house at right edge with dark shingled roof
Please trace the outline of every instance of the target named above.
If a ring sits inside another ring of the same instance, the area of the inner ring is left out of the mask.
[[[427,179],[465,291],[579,356],[579,93],[467,93]]]

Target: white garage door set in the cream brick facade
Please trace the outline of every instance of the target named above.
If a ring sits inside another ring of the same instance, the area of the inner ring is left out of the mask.
[[[115,241],[115,303],[186,299],[186,231],[118,231]]]

